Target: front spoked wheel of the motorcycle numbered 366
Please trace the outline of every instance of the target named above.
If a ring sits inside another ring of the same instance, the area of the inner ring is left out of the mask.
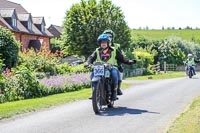
[[[101,82],[97,82],[93,86],[93,92],[92,92],[92,106],[94,112],[100,113],[100,110],[102,109],[102,104],[101,104]]]

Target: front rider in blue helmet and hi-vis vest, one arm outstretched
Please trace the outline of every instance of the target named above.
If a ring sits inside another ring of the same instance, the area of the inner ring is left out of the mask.
[[[101,34],[97,38],[97,42],[100,47],[97,48],[87,59],[84,67],[88,67],[94,61],[108,62],[111,63],[114,67],[111,69],[111,78],[114,83],[114,90],[112,95],[112,100],[117,99],[117,88],[119,82],[119,71],[117,68],[117,61],[125,64],[135,64],[136,60],[130,60],[125,58],[122,53],[113,47],[110,44],[110,37],[107,34]],[[93,72],[91,73],[91,79],[94,77]]]

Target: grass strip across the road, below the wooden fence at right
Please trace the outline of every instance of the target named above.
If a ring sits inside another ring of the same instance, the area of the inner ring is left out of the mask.
[[[179,77],[184,77],[185,72],[167,72],[157,75],[147,75],[147,76],[136,76],[136,77],[130,77],[126,78],[127,80],[147,80],[149,77],[152,79],[168,79],[168,78],[179,78]]]

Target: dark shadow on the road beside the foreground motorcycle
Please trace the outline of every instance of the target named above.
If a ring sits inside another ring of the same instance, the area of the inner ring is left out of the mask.
[[[100,116],[121,116],[126,114],[138,115],[143,113],[153,113],[160,114],[158,112],[151,112],[148,110],[141,109],[132,109],[127,107],[114,107],[114,108],[105,108],[99,115]]]

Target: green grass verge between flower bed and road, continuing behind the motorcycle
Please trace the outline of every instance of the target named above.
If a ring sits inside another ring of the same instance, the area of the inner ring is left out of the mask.
[[[122,83],[122,89],[128,88],[130,86],[131,84]],[[56,94],[43,98],[3,103],[0,104],[0,120],[56,105],[62,105],[77,100],[87,99],[91,95],[91,92],[91,88],[87,88],[80,91]]]

